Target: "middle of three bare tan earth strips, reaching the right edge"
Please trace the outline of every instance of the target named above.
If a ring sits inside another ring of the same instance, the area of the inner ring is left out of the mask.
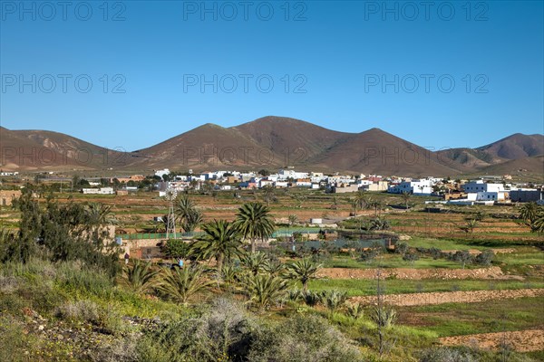
[[[485,300],[516,299],[544,296],[544,289],[520,289],[504,291],[442,291],[430,293],[389,294],[384,302],[395,306],[418,306],[442,303],[478,303]],[[376,296],[352,297],[355,303],[375,304]]]

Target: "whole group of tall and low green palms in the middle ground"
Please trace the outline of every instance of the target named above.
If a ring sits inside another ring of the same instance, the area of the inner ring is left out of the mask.
[[[177,211],[181,225],[194,230],[202,219],[195,205],[180,196]],[[307,291],[308,281],[316,277],[321,265],[310,259],[284,264],[264,252],[256,252],[259,240],[266,240],[275,230],[267,205],[250,202],[238,208],[232,222],[213,220],[201,224],[203,235],[189,243],[192,261],[183,268],[157,268],[150,262],[135,261],[125,269],[123,283],[139,293],[157,293],[165,298],[187,303],[202,291],[226,288],[248,297],[258,310],[267,309],[286,296],[289,281],[300,281]],[[245,242],[250,250],[245,250]],[[210,262],[215,262],[211,267]]]

